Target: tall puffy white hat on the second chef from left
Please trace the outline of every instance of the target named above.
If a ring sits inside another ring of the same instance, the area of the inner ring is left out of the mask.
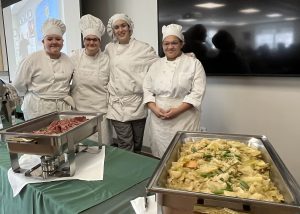
[[[87,14],[80,19],[80,30],[83,38],[94,35],[101,39],[101,36],[105,33],[105,26],[99,18]]]

